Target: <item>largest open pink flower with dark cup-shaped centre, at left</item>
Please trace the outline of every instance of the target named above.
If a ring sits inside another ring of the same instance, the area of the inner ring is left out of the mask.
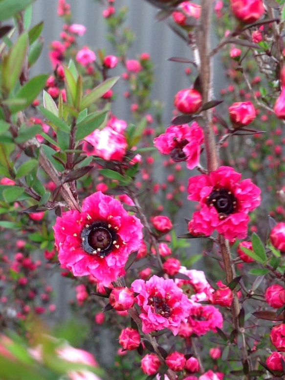
[[[82,212],[70,210],[56,219],[55,245],[62,268],[74,276],[92,274],[103,285],[124,275],[129,254],[142,241],[142,224],[122,204],[96,192],[82,204]]]

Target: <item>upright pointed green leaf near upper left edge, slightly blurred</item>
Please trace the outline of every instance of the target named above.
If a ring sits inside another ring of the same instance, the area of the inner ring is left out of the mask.
[[[0,6],[2,2],[0,2]],[[15,45],[11,47],[8,54],[3,57],[2,82],[8,92],[14,88],[21,75],[28,51],[28,44],[28,34],[24,32],[20,35]]]

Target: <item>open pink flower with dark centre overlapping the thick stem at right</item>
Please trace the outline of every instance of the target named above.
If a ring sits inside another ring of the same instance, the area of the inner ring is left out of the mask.
[[[229,240],[246,236],[247,214],[260,204],[261,191],[250,179],[240,179],[232,167],[220,166],[188,180],[188,199],[201,206],[188,224],[190,233],[210,235],[216,229]]]

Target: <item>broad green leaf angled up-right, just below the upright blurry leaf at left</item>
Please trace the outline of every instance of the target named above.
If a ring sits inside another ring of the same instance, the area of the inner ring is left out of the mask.
[[[47,74],[40,74],[32,79],[30,79],[24,86],[20,89],[20,91],[15,95],[14,99],[24,99],[24,104],[22,105],[12,105],[9,107],[11,113],[19,112],[29,106],[38,96],[40,91],[43,89]]]

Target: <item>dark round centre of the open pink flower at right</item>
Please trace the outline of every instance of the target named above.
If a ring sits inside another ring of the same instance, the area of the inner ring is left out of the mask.
[[[219,212],[219,218],[226,218],[232,214],[237,207],[237,200],[231,191],[221,188],[213,189],[212,193],[207,197],[208,206],[214,206]]]

